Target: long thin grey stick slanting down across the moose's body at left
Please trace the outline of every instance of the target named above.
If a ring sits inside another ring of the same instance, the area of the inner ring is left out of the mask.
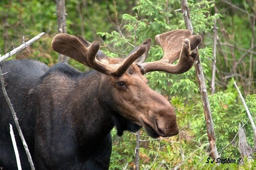
[[[19,125],[19,122],[18,122],[18,118],[17,118],[16,113],[15,113],[13,107],[12,107],[11,100],[9,99],[9,97],[8,97],[8,95],[7,95],[7,92],[6,92],[6,90],[5,90],[4,78],[3,78],[3,74],[2,74],[1,67],[0,67],[0,80],[1,80],[1,84],[2,84],[2,90],[3,90],[3,93],[4,93],[4,97],[5,97],[5,99],[6,99],[7,103],[8,103],[8,105],[9,105],[11,111],[12,111],[12,116],[13,116],[14,122],[15,122],[15,124],[16,124],[16,127],[17,127],[17,129],[18,129],[18,132],[19,132],[21,141],[22,141],[22,143],[23,143],[24,149],[25,149],[26,154],[27,154],[27,156],[28,156],[28,161],[29,161],[29,164],[30,164],[30,166],[31,166],[31,170],[35,170],[35,167],[34,167],[34,164],[33,164],[32,158],[31,158],[31,155],[30,155],[29,150],[28,150],[28,145],[27,145],[27,143],[26,143],[26,141],[25,141],[25,139],[24,139],[24,136],[23,136],[23,134],[22,134],[22,132],[21,132],[21,129],[20,129],[20,125]]]

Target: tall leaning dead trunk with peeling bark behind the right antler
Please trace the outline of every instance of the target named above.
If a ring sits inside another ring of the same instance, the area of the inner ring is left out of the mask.
[[[180,3],[181,3],[181,11],[185,20],[186,27],[188,30],[190,30],[193,33],[192,21],[191,21],[189,10],[188,10],[188,2],[187,0],[180,0]],[[196,50],[198,50],[198,48],[196,48]],[[196,56],[195,68],[196,68],[196,76],[197,76],[199,87],[200,87],[200,93],[203,100],[204,117],[206,122],[208,140],[210,144],[210,155],[212,158],[217,159],[219,158],[219,155],[218,155],[217,147],[215,144],[215,141],[216,141],[215,131],[214,131],[214,126],[212,121],[210,103],[209,103],[208,94],[206,90],[206,84],[204,80],[204,72],[200,62],[199,55]]]

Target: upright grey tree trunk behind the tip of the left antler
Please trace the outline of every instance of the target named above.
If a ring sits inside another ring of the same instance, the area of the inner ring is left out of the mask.
[[[67,33],[65,0],[56,0],[56,5],[57,5],[58,33]],[[59,62],[68,63],[68,57],[65,55],[59,54]]]

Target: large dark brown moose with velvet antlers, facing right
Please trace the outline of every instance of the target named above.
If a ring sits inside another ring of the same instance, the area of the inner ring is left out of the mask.
[[[52,49],[94,70],[83,73],[68,64],[49,68],[35,60],[1,64],[6,91],[17,113],[36,170],[108,169],[114,126],[135,132],[144,127],[151,137],[179,133],[172,105],[148,87],[143,75],[150,71],[180,74],[197,56],[200,35],[174,30],[156,35],[163,48],[159,61],[146,62],[151,39],[125,59],[110,58],[81,36],[57,34]],[[179,59],[177,64],[173,64]],[[0,92],[0,166],[17,169],[9,134],[14,126],[10,109]],[[23,144],[14,129],[23,169],[30,169]]]

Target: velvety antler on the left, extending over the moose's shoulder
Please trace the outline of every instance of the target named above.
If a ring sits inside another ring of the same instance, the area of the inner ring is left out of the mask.
[[[79,38],[79,39],[78,39]],[[129,55],[122,63],[118,58],[109,58],[100,50],[100,43],[90,43],[83,37],[69,34],[57,34],[52,40],[52,49],[60,54],[67,55],[79,63],[111,76],[121,76],[147,50],[142,44],[135,52]],[[87,47],[86,47],[87,46]]]

